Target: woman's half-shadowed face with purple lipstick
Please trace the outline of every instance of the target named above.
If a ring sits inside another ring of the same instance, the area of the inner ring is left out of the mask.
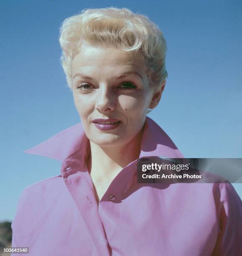
[[[131,57],[120,49],[86,45],[72,61],[74,103],[87,137],[99,146],[132,141],[143,127],[148,108],[154,107],[144,64]],[[95,120],[111,118],[119,123]]]

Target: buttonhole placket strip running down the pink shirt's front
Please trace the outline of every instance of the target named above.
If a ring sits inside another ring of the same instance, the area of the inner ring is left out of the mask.
[[[69,157],[61,165],[61,174],[92,238],[96,255],[110,256],[111,249],[99,216],[92,179],[86,165],[83,166],[82,162]]]

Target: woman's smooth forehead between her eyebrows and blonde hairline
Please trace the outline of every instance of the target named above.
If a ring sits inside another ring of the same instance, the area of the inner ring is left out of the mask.
[[[140,54],[111,47],[84,45],[72,60],[72,71],[80,68],[112,70],[117,67],[145,72],[144,61]]]

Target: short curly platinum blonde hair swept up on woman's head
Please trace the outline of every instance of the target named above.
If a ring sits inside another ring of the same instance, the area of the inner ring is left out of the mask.
[[[132,13],[127,8],[84,9],[80,14],[64,20],[59,42],[62,49],[61,65],[71,90],[71,61],[84,43],[140,53],[154,90],[158,90],[168,76],[163,33],[146,16]]]

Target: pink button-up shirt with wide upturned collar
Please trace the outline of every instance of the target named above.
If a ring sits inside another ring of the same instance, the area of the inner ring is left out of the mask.
[[[61,175],[23,190],[12,247],[29,247],[31,256],[242,255],[242,202],[231,184],[138,184],[135,160],[97,205],[81,123],[25,152],[62,161]],[[148,117],[146,156],[183,157]]]

